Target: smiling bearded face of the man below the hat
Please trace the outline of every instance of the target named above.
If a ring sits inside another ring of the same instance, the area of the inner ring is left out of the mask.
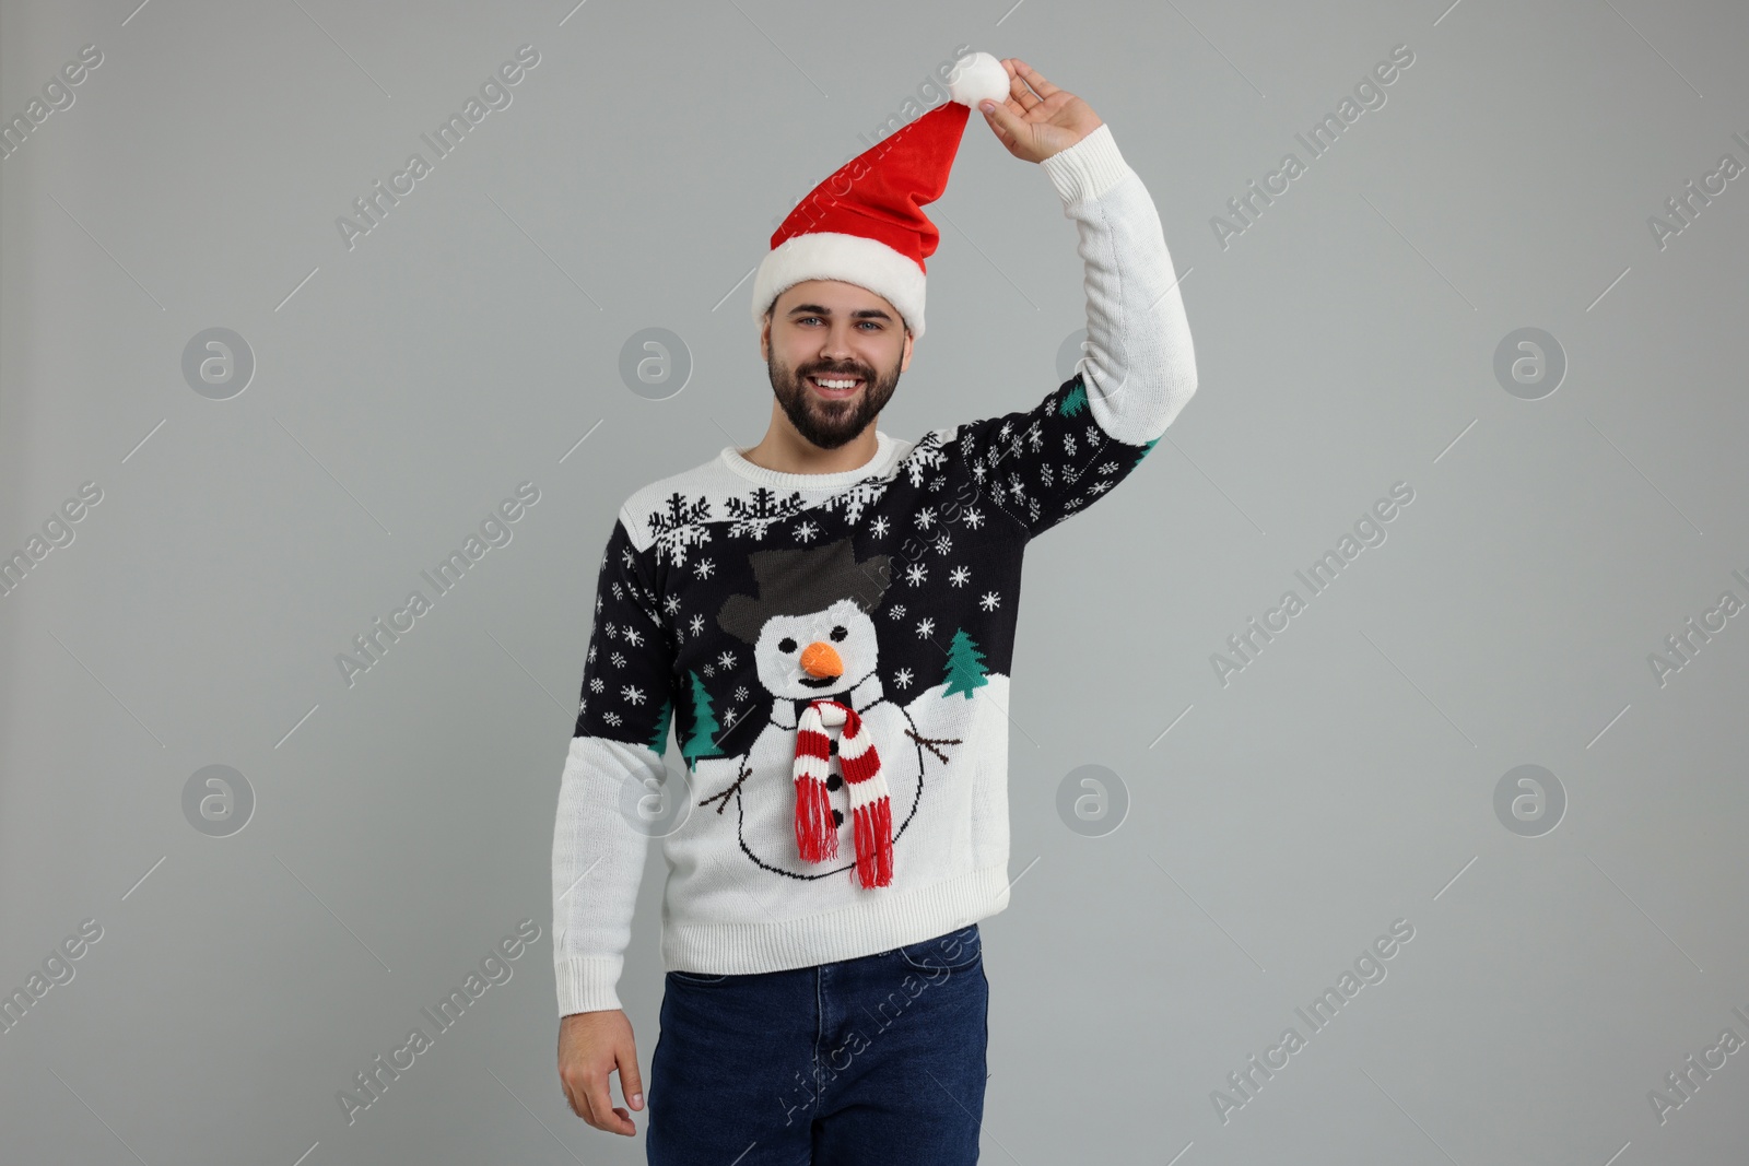
[[[761,346],[778,406],[796,432],[820,449],[836,449],[868,428],[911,364],[911,336],[899,309],[841,280],[785,288]],[[820,379],[855,385],[833,390]]]

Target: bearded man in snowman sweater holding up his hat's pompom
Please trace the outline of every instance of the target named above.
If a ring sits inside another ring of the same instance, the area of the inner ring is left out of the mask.
[[[1111,129],[1020,59],[964,56],[950,91],[773,234],[764,439],[633,493],[602,559],[553,844],[558,1063],[579,1117],[635,1133],[609,1094],[617,1070],[644,1108],[616,984],[656,832],[638,808],[665,804],[651,1163],[978,1159],[1021,552],[1196,388],[1160,217]],[[874,423],[939,238],[920,206],[971,105],[1076,220],[1088,355],[1030,411],[894,441]]]

